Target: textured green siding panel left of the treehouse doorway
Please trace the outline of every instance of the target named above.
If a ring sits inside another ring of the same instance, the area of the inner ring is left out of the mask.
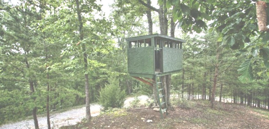
[[[128,73],[154,74],[153,46],[128,48]]]

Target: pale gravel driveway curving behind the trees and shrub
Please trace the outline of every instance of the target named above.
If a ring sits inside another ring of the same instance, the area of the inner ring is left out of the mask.
[[[140,100],[139,104],[143,104],[147,102],[147,99],[149,97],[142,95],[139,96],[138,99]],[[128,107],[130,105],[130,102],[133,101],[133,97],[128,97],[124,101],[124,107]],[[100,105],[91,105],[91,116],[98,116],[100,113]],[[74,125],[80,122],[84,117],[86,116],[86,108],[76,108],[72,109],[66,112],[51,114],[50,123],[52,128],[59,128],[61,126],[67,126],[67,125]],[[46,129],[47,127],[47,117],[39,117],[38,118],[38,124],[40,129]],[[14,122],[10,124],[4,124],[0,126],[0,129],[34,129],[35,125],[33,122],[33,119],[31,120],[23,120],[19,122]]]

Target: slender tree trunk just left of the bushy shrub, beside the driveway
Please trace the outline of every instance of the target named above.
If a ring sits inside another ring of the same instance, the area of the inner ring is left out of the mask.
[[[76,9],[78,14],[78,22],[79,22],[79,36],[80,41],[83,40],[83,22],[81,17],[81,10],[80,10],[80,3],[78,0],[76,1]],[[83,52],[83,60],[84,60],[84,79],[85,79],[85,103],[86,103],[86,120],[90,121],[91,119],[91,112],[90,112],[90,91],[89,91],[89,78],[88,78],[88,61],[87,61],[87,53],[86,53],[86,46],[82,43],[82,52]]]

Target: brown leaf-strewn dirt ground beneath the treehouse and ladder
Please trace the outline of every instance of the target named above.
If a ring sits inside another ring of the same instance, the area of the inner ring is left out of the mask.
[[[93,117],[63,129],[140,129],[140,128],[269,128],[269,111],[258,110],[234,103],[216,103],[214,109],[208,101],[195,101],[191,109],[175,106],[164,119],[149,107],[120,109]]]

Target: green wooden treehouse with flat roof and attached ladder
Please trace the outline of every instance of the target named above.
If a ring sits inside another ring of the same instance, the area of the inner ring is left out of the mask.
[[[161,118],[167,107],[164,97],[161,76],[180,71],[182,69],[182,43],[186,42],[161,34],[152,34],[126,38],[128,73],[150,86],[156,86]],[[159,78],[159,79],[158,79]],[[164,101],[161,102],[161,99]],[[162,109],[162,105],[164,108]]]

